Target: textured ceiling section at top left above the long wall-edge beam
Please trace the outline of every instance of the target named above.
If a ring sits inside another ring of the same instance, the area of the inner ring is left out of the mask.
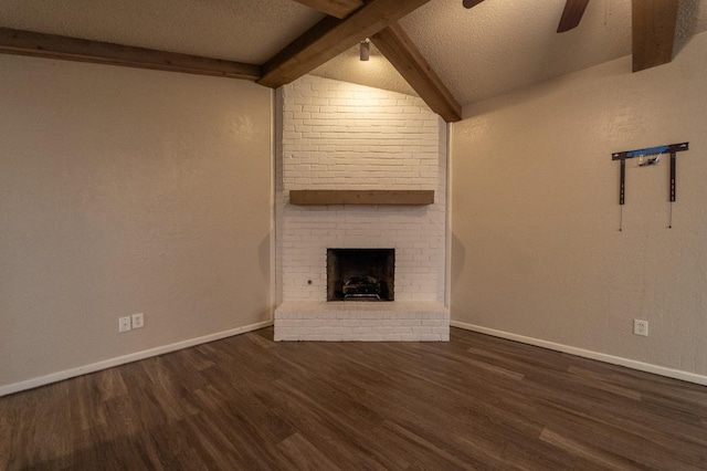
[[[292,0],[0,0],[0,27],[250,64],[323,18]]]

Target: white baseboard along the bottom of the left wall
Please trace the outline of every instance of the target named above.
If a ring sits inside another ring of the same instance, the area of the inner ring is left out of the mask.
[[[170,345],[163,345],[161,347],[150,348],[143,352],[136,352],[129,355],[105,359],[103,362],[92,363],[91,365],[84,365],[76,368],[64,369],[63,371],[52,373],[50,375],[40,376],[38,378],[28,379],[20,383],[13,383],[6,386],[0,386],[0,397],[14,393],[20,393],[27,389],[33,389],[40,386],[45,386],[52,383],[59,383],[64,379],[74,378],[81,375],[87,375],[89,373],[99,371],[102,369],[113,368],[114,366],[125,365],[126,363],[133,363],[140,359],[149,358],[152,356],[163,355],[180,350],[182,348],[193,347],[196,345],[208,344],[209,342],[220,341],[222,338],[232,337],[234,335],[245,334],[247,332],[257,331],[260,328],[270,327],[273,325],[273,321],[258,322],[256,324],[245,325],[243,327],[231,328],[229,331],[218,332],[215,334],[209,334],[201,337],[190,338],[188,341],[177,342]]]

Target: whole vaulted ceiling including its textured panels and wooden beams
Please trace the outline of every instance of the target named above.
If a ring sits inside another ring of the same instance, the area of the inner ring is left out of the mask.
[[[2,0],[0,52],[253,80],[313,73],[461,107],[633,51],[635,71],[707,30],[707,0]],[[371,61],[358,43],[372,40]],[[673,42],[673,39],[675,40]]]

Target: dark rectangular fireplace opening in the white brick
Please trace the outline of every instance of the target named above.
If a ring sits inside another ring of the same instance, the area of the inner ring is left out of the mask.
[[[395,249],[327,249],[327,301],[393,301]]]

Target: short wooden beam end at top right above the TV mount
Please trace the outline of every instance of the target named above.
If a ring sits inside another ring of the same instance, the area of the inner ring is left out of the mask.
[[[633,0],[633,72],[673,60],[678,0]]]

